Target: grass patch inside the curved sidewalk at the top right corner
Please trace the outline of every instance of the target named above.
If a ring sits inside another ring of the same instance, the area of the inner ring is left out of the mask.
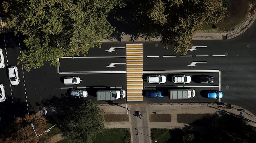
[[[252,0],[230,0],[230,6],[228,11],[229,17],[226,17],[223,22],[213,23],[216,25],[216,31],[234,30],[234,27],[238,28],[239,24],[243,23],[247,19],[247,12],[249,4]],[[212,24],[203,24],[202,30],[211,30]]]

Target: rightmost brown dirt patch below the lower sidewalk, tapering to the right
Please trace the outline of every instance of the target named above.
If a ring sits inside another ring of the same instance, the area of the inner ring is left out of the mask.
[[[177,114],[177,122],[191,124],[202,117],[213,116],[214,114]]]

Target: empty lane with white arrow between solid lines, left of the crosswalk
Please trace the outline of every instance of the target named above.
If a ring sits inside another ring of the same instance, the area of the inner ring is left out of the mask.
[[[60,72],[76,71],[126,71],[126,56],[112,58],[63,58],[60,59]],[[115,63],[115,67],[111,67]],[[110,67],[106,67],[110,66]]]

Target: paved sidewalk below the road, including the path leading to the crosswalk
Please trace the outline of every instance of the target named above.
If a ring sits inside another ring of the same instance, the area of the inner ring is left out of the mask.
[[[119,106],[111,106],[109,104],[101,104],[99,108],[103,109],[105,114],[125,114],[126,108],[123,108],[125,104],[119,104]],[[231,108],[226,108],[225,105],[218,106],[216,103],[163,103],[163,104],[128,104],[128,116],[129,121],[121,122],[105,122],[106,128],[130,128],[131,133],[131,143],[151,143],[150,139],[150,129],[151,128],[182,128],[184,126],[189,126],[189,124],[183,124],[177,122],[178,114],[213,114],[218,112],[224,112],[227,114],[240,116],[241,109],[238,106],[231,105]],[[135,111],[140,111],[145,117],[139,119],[139,117],[134,116]],[[169,122],[152,122],[150,121],[150,116],[161,114],[170,114],[171,121]],[[193,116],[190,116],[193,119]],[[256,117],[245,110],[243,112],[243,119],[249,121],[248,124],[256,126]]]

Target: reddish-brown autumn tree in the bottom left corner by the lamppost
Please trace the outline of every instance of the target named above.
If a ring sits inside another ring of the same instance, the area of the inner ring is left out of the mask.
[[[47,133],[36,137],[33,128],[30,126],[31,123],[34,124],[38,135],[47,130],[46,120],[41,118],[40,115],[18,117],[7,128],[7,132],[4,134],[4,143],[44,143]]]

